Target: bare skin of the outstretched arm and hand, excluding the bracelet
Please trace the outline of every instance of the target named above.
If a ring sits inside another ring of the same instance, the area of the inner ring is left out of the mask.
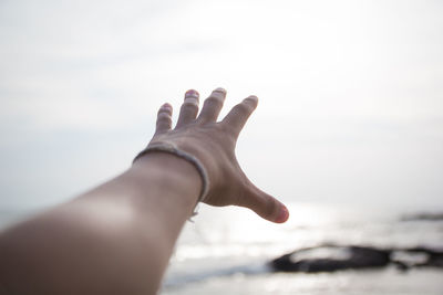
[[[209,178],[204,202],[285,222],[286,207],[255,187],[235,157],[258,99],[245,98],[217,122],[225,97],[215,89],[198,115],[198,93],[186,92],[175,128],[173,108],[164,104],[150,145],[173,144],[203,164]],[[3,231],[0,294],[155,294],[202,186],[187,160],[162,151],[142,156],[102,186]]]

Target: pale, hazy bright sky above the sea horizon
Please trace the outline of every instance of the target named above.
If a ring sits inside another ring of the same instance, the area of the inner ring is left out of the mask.
[[[255,94],[248,177],[284,202],[442,207],[441,1],[0,2],[0,208],[131,166],[183,94]],[[174,117],[176,118],[176,113]]]

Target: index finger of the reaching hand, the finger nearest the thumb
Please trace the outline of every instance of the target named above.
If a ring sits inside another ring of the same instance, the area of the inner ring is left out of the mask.
[[[227,125],[227,127],[234,131],[235,137],[238,137],[250,114],[256,109],[257,104],[257,96],[250,95],[246,97],[241,103],[230,109],[222,124]]]

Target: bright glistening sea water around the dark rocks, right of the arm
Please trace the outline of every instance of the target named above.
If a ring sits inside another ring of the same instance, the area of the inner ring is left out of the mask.
[[[433,209],[292,203],[285,224],[241,208],[204,206],[188,222],[161,294],[443,294],[443,270],[394,266],[336,273],[272,273],[271,259],[323,243],[443,247],[443,221],[402,221]]]

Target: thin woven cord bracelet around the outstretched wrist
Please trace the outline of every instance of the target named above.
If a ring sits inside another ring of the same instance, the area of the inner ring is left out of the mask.
[[[202,177],[202,190],[200,190],[200,196],[198,197],[197,203],[194,207],[193,210],[193,214],[192,217],[195,217],[198,212],[197,212],[197,206],[199,202],[203,202],[208,193],[209,190],[209,178],[207,176],[206,169],[203,166],[203,164],[193,155],[178,149],[176,146],[172,145],[172,144],[153,144],[153,145],[148,145],[144,150],[142,150],[141,152],[138,152],[138,155],[134,158],[134,160],[132,161],[133,164],[142,156],[151,152],[151,151],[164,151],[164,152],[168,152],[168,154],[173,154],[182,159],[187,160],[188,162],[190,162],[192,165],[194,165],[194,167],[197,169],[198,173]]]

